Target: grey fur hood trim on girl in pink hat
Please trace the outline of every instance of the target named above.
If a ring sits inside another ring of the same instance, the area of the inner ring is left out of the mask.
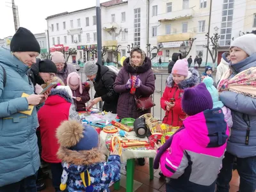
[[[178,84],[178,86],[180,89],[184,90],[185,88],[195,86],[196,84],[199,83],[199,80],[200,80],[200,75],[199,75],[198,71],[193,68],[189,68],[188,77],[186,79],[184,79],[184,81],[181,81]],[[175,83],[172,79],[172,74],[170,74],[170,76],[167,77],[166,86],[172,87],[174,84]]]

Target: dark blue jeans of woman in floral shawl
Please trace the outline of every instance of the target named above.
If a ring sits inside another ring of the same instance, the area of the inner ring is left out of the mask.
[[[232,179],[232,169],[235,156],[225,152],[225,158],[222,161],[222,169],[217,179],[216,192],[228,192],[229,182]],[[255,192],[256,189],[256,156],[239,158],[237,157],[237,172],[240,176],[239,192]]]

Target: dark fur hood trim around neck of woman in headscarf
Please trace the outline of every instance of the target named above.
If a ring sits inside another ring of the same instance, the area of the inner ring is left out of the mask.
[[[143,64],[139,67],[132,67],[131,65],[131,58],[126,58],[123,63],[124,69],[129,72],[130,74],[142,74],[144,72],[147,72],[148,70],[151,70],[152,68],[152,62],[150,58],[145,56],[145,60]]]

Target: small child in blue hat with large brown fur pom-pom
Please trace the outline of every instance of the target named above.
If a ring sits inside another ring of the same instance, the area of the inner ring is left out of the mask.
[[[106,191],[120,180],[120,156],[114,150],[106,162],[98,147],[99,136],[90,125],[65,121],[56,132],[63,173],[60,189],[68,192]]]

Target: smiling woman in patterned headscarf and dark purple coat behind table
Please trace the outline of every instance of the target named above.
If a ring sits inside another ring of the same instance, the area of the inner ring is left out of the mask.
[[[116,77],[114,90],[120,93],[117,104],[117,115],[119,118],[138,118],[145,113],[150,113],[150,109],[138,111],[135,97],[148,97],[154,93],[155,78],[152,72],[150,58],[145,56],[139,47],[134,47],[131,56],[126,58],[118,76]],[[131,94],[131,77],[136,76],[135,94]]]

